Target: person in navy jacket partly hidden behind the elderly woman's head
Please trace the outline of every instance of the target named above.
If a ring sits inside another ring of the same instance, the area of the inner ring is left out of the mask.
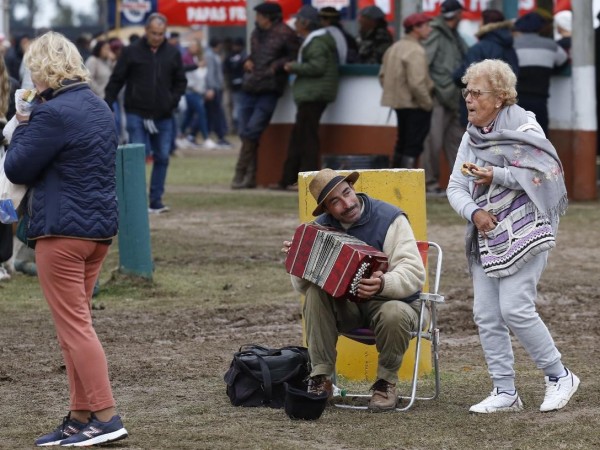
[[[469,48],[462,65],[454,72],[454,82],[461,88],[466,87],[461,78],[467,68],[484,59],[501,59],[519,76],[519,60],[513,47],[512,21],[504,20],[504,15],[495,9],[486,9],[481,16],[483,26],[475,34],[479,42]],[[460,122],[464,127],[467,126],[465,102],[460,102]]]

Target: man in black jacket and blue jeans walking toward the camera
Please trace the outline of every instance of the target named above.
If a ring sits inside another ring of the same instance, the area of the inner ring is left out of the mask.
[[[125,85],[129,142],[146,145],[154,159],[148,212],[156,214],[169,210],[162,196],[175,133],[173,112],[187,85],[181,55],[166,41],[166,29],[166,17],[151,14],[144,37],[123,49],[105,89],[105,100],[112,105]]]

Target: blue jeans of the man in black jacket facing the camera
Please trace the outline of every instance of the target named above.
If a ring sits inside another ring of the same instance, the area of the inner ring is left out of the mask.
[[[152,175],[150,176],[150,205],[161,202],[165,192],[171,140],[175,133],[173,119],[171,117],[154,119],[158,133],[150,134],[144,128],[144,119],[142,116],[131,113],[127,113],[126,116],[129,142],[132,144],[144,144],[146,146],[146,154],[152,154],[154,158]]]

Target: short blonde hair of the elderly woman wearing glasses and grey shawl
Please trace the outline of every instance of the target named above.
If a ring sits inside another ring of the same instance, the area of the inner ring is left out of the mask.
[[[500,59],[484,59],[473,63],[468,68],[462,82],[469,84],[475,78],[488,81],[490,88],[502,99],[503,106],[517,103],[517,76],[511,67]]]

